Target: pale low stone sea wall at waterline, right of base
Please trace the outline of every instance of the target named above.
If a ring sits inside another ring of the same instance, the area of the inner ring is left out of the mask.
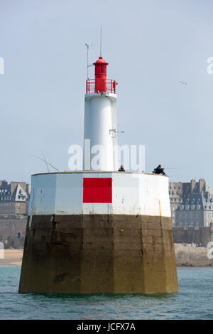
[[[207,247],[175,244],[176,264],[177,266],[213,266],[213,259],[207,257],[208,251]],[[213,255],[213,249],[211,254]]]

